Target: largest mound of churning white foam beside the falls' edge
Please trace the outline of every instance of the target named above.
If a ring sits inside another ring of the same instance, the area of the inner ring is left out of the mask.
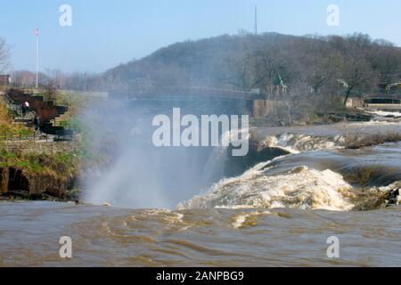
[[[331,170],[296,167],[284,175],[267,176],[260,166],[224,179],[178,208],[301,208],[348,211],[353,191],[342,175]]]

